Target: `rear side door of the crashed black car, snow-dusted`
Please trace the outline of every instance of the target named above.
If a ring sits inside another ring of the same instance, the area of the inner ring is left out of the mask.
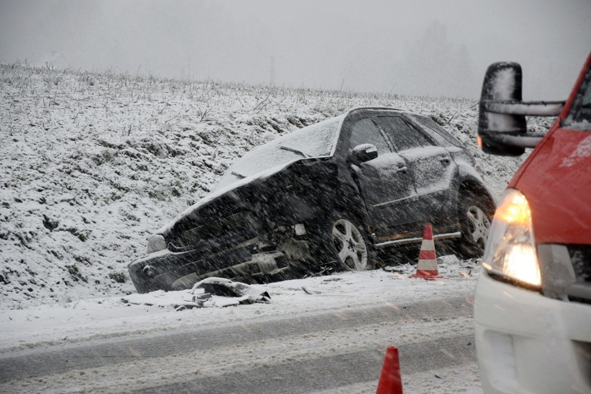
[[[416,195],[406,204],[407,217],[420,228],[426,222],[434,230],[443,230],[455,217],[454,191],[451,187],[456,164],[447,149],[436,144],[407,122],[402,114],[379,116],[381,126],[395,151],[406,160],[413,174]]]

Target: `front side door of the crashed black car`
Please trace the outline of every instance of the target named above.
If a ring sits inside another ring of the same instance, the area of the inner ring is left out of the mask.
[[[350,133],[350,149],[361,144],[373,144],[378,156],[368,162],[351,163],[352,174],[359,184],[361,196],[376,234],[391,234],[409,222],[409,198],[416,196],[407,161],[393,151],[384,132],[371,117],[355,121]]]

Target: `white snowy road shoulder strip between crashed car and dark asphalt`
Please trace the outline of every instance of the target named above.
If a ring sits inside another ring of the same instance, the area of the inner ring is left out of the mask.
[[[453,256],[444,256],[438,262],[440,275],[445,277],[443,280],[409,278],[416,270],[411,264],[403,264],[392,272],[336,273],[257,285],[271,295],[270,303],[231,309],[200,308],[175,312],[176,307],[191,301],[191,290],[122,294],[27,309],[1,309],[0,353],[10,348],[35,348],[47,343],[78,342],[151,330],[207,327],[243,319],[293,316],[294,313],[397,305],[455,295],[471,299],[480,272],[479,261],[458,261]]]

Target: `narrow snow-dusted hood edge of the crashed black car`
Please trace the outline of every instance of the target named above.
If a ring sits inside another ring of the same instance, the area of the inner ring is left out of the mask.
[[[167,234],[167,233],[171,232],[171,230],[173,228],[177,227],[180,222],[185,222],[187,220],[187,218],[189,218],[189,216],[191,216],[191,218],[189,220],[196,219],[198,216],[198,212],[200,210],[202,210],[204,207],[206,207],[208,205],[212,205],[212,203],[214,203],[214,201],[217,204],[219,202],[219,200],[228,200],[228,201],[224,201],[223,203],[229,203],[230,200],[233,200],[234,202],[241,200],[241,198],[243,198],[243,195],[248,194],[246,192],[246,189],[248,189],[248,187],[250,185],[252,185],[253,182],[256,182],[258,180],[265,180],[266,178],[271,178],[273,175],[284,171],[288,167],[293,166],[293,164],[295,164],[295,163],[311,162],[311,161],[316,161],[316,160],[322,160],[325,158],[327,158],[327,157],[307,157],[307,158],[302,158],[302,159],[295,159],[295,160],[292,160],[291,162],[286,162],[284,164],[280,164],[278,166],[271,167],[270,169],[266,169],[265,171],[255,173],[254,175],[250,175],[244,179],[237,180],[236,182],[232,183],[231,185],[228,185],[227,187],[217,189],[217,190],[213,191],[212,193],[207,194],[207,196],[201,198],[197,203],[195,203],[194,205],[191,205],[191,207],[185,209],[184,212],[182,212],[181,214],[176,216],[175,219],[173,219],[173,221],[171,221],[169,224],[165,225],[164,227],[160,228],[160,230],[158,230],[156,233],[157,234]],[[242,202],[248,203],[248,201],[242,201]],[[232,204],[232,205],[234,205],[234,204]]]

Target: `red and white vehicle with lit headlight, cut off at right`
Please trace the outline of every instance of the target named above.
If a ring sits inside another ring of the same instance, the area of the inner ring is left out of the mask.
[[[522,101],[517,63],[486,73],[484,151],[536,146],[495,213],[474,302],[490,393],[591,393],[591,53],[564,102]],[[545,137],[524,115],[557,116]]]

